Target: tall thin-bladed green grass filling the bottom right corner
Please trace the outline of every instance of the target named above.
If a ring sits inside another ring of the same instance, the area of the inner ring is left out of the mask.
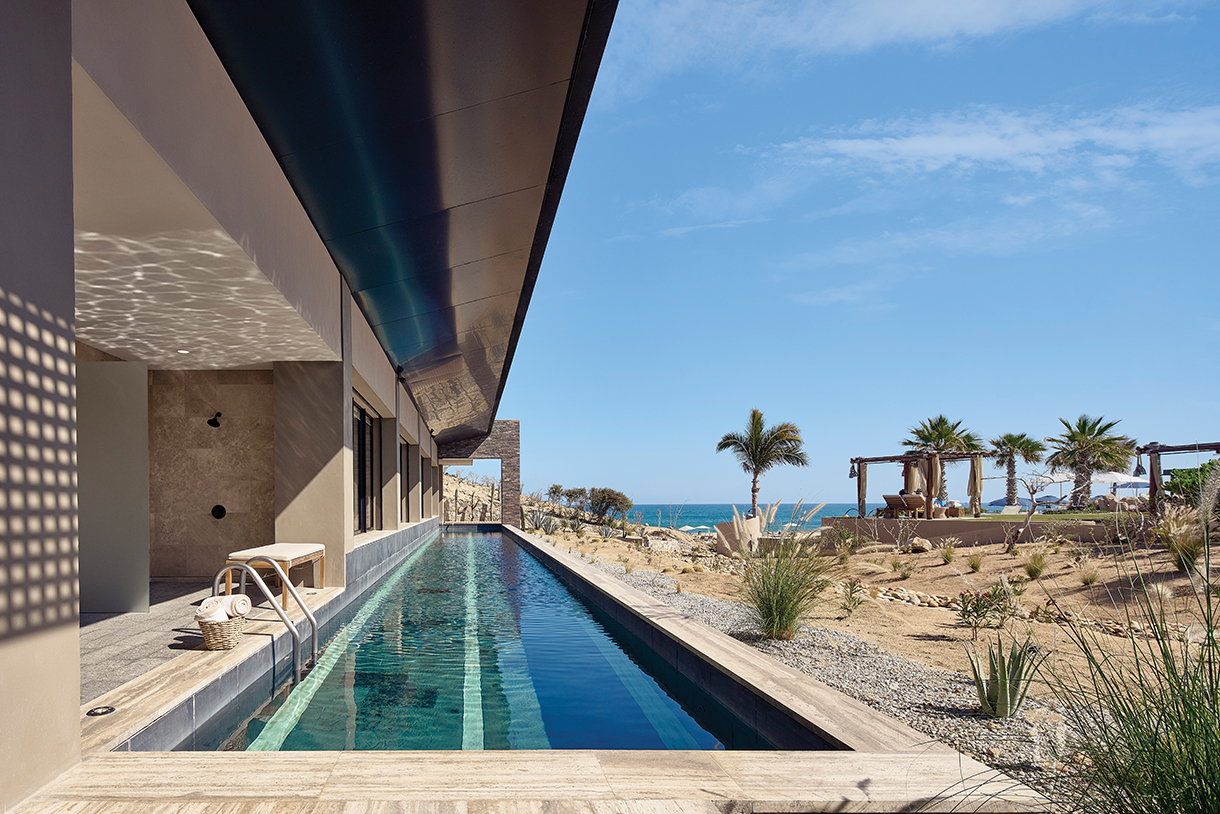
[[[1220,471],[1214,475],[1202,491],[1199,516],[1216,505]],[[1076,780],[1057,801],[1066,810],[1220,812],[1220,619],[1210,530],[1203,525],[1200,535],[1202,563],[1188,570],[1194,591],[1187,611],[1175,611],[1154,591],[1135,591],[1125,615],[1142,633],[1115,653],[1094,629],[1069,626],[1083,666],[1043,670],[1072,730],[1057,755]],[[1138,583],[1153,582],[1132,553],[1120,563]]]

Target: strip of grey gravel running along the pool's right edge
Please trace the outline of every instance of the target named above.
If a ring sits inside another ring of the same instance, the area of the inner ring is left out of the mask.
[[[966,674],[925,668],[838,631],[808,629],[791,642],[764,639],[739,603],[676,593],[675,581],[662,574],[627,574],[617,563],[595,567],[1043,793],[1053,794],[1061,779],[1050,738],[1063,737],[1063,718],[1047,704],[1028,698],[1016,718],[988,718]]]

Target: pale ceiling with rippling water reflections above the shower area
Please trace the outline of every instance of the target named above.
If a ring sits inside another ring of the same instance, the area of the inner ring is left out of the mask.
[[[160,369],[338,360],[74,61],[72,161],[77,339]]]

